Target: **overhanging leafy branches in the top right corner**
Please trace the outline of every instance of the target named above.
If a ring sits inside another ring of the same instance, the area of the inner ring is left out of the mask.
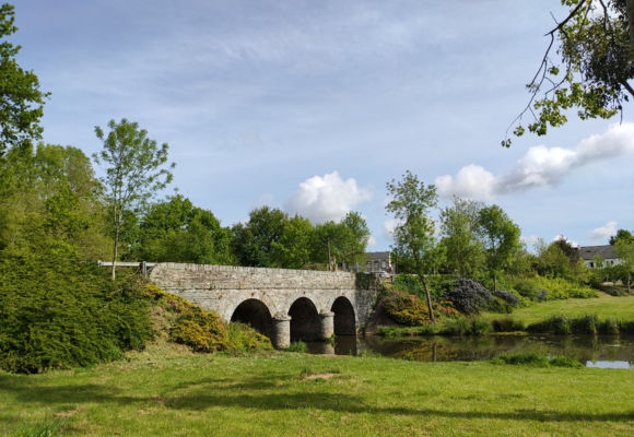
[[[567,121],[566,111],[576,108],[580,119],[610,118],[634,97],[634,0],[561,0],[568,15],[551,29],[550,43],[539,69],[527,85],[530,98],[512,122],[514,134],[526,128],[525,115],[532,116],[530,132],[544,135],[549,127]],[[551,55],[559,40],[557,59]],[[510,127],[509,127],[510,128]],[[506,137],[502,144],[508,147]]]

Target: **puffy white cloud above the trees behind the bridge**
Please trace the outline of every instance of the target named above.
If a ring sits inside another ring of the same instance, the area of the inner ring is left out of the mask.
[[[372,193],[360,188],[356,180],[341,179],[339,173],[313,176],[300,184],[300,189],[289,199],[284,209],[314,223],[339,221],[359,203],[368,201]]]

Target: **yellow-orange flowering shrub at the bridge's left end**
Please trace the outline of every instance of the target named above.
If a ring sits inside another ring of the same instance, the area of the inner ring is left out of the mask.
[[[196,352],[223,351],[230,347],[226,329],[219,315],[192,307],[178,317],[169,330],[169,340]]]

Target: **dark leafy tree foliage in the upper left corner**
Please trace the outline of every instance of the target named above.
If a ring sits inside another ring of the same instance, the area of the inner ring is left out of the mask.
[[[38,122],[44,101],[49,95],[39,90],[33,71],[17,64],[15,57],[22,47],[5,39],[17,31],[14,13],[13,5],[0,5],[0,156],[8,146],[24,145],[42,138]]]

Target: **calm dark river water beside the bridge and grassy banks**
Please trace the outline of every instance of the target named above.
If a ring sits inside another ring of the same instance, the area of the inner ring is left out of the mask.
[[[486,335],[386,339],[342,335],[334,345],[308,343],[313,354],[357,355],[362,352],[421,362],[486,361],[503,352],[538,351],[573,356],[588,367],[634,369],[634,335]]]

